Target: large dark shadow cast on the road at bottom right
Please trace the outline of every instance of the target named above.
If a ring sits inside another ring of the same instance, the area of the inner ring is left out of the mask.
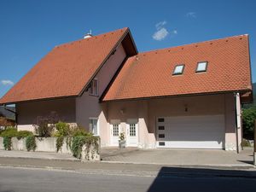
[[[162,167],[148,189],[153,191],[254,191],[256,171]]]

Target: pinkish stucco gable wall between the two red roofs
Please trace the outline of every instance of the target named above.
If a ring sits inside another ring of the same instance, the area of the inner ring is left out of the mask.
[[[116,49],[115,53],[111,55],[103,65],[99,73],[96,74],[96,79],[99,86],[99,96],[102,96],[106,90],[113,75],[117,72],[119,66],[125,60],[126,53],[122,44]],[[99,96],[90,96],[86,91],[84,94],[76,98],[76,122],[89,130],[89,118],[98,118],[100,128],[101,143],[105,146],[108,143],[108,124],[107,124],[107,105],[99,103]]]

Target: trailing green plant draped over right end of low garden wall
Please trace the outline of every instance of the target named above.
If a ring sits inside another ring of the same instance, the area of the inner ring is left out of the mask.
[[[71,147],[73,156],[80,159],[82,148],[84,145],[87,148],[87,154],[89,153],[91,145],[95,146],[96,150],[98,150],[98,148],[99,148],[98,140],[99,140],[99,137],[95,137],[95,136],[91,136],[91,135],[90,136],[73,137],[73,142],[72,142],[72,147]]]

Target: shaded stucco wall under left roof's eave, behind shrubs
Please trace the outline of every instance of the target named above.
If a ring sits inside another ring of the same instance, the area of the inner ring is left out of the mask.
[[[68,123],[75,122],[75,98],[55,99],[38,102],[22,102],[16,104],[18,113],[18,130],[33,131],[33,124],[38,116],[48,116],[51,112],[58,114],[59,118]]]

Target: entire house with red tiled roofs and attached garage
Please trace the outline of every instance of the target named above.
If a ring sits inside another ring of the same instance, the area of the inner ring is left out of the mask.
[[[241,144],[252,102],[248,36],[137,53],[128,28],[56,46],[0,100],[20,130],[55,111],[102,146],[224,148]]]

